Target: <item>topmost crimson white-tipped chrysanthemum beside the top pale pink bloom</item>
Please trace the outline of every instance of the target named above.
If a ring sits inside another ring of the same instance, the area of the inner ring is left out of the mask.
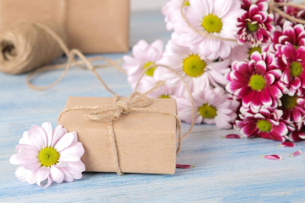
[[[267,43],[270,34],[274,30],[273,14],[267,12],[268,2],[260,1],[259,5],[251,4],[249,10],[239,17],[237,27],[239,27],[238,42],[243,44],[250,42],[252,46],[258,46],[262,42]]]

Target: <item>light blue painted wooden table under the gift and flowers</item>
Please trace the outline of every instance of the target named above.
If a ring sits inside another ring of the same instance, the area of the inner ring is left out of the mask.
[[[164,17],[160,12],[133,13],[131,45],[139,39],[160,38],[167,42]],[[130,53],[129,53],[130,54]],[[123,54],[103,55],[112,59]],[[90,57],[90,56],[89,56]],[[98,64],[99,62],[96,62]],[[41,86],[55,81],[62,70],[38,76]],[[120,95],[132,90],[127,77],[114,68],[99,69],[109,87]],[[235,133],[212,125],[196,125],[183,140],[177,163],[194,165],[176,169],[174,175],[84,172],[72,183],[53,183],[48,188],[29,185],[15,177],[16,165],[9,163],[23,131],[33,124],[57,117],[68,96],[112,96],[88,70],[72,68],[55,87],[35,91],[25,85],[26,75],[0,73],[0,202],[4,203],[304,203],[305,154],[289,157],[295,148],[277,147],[280,143],[261,138],[224,139]],[[183,124],[186,131],[189,125]],[[261,154],[279,154],[283,160],[263,159]]]

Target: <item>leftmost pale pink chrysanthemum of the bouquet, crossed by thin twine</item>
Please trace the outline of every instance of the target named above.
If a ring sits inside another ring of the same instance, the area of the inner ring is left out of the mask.
[[[158,63],[162,55],[163,42],[158,39],[152,42],[151,45],[149,45],[145,40],[140,40],[133,46],[133,56],[123,56],[124,63],[122,68],[126,70],[128,76],[127,80],[131,84],[133,90],[143,71]],[[146,72],[139,83],[137,91],[143,92],[150,88],[147,84],[154,82],[153,73],[155,68],[156,67],[152,67]]]

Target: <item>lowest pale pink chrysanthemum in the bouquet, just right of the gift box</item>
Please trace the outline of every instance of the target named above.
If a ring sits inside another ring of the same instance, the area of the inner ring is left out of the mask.
[[[207,88],[192,93],[195,107],[195,123],[216,124],[217,128],[230,129],[235,121],[239,102],[229,98],[223,88]],[[191,123],[191,102],[189,99],[177,98],[178,116]]]

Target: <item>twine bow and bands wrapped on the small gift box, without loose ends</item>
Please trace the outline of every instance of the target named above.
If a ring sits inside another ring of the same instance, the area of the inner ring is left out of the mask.
[[[91,111],[88,115],[85,115],[85,118],[95,121],[105,121],[107,122],[107,129],[108,129],[108,135],[110,138],[111,148],[114,154],[114,166],[115,171],[118,175],[122,175],[120,164],[119,164],[119,155],[117,151],[116,141],[115,141],[115,134],[114,134],[114,128],[113,128],[113,122],[118,120],[120,117],[124,115],[130,115],[132,113],[136,112],[154,112],[154,113],[162,113],[167,114],[170,116],[173,116],[176,118],[177,126],[178,126],[178,147],[176,150],[176,154],[179,153],[181,148],[181,121],[179,117],[169,111],[159,111],[159,110],[152,110],[152,109],[145,109],[144,107],[147,107],[151,105],[152,100],[147,96],[147,94],[153,92],[154,90],[160,88],[165,83],[164,81],[158,81],[156,85],[150,89],[149,91],[145,93],[140,92],[133,92],[130,97],[127,98],[126,101],[118,101],[119,96],[114,95],[114,103],[109,105],[97,105],[97,106],[76,106],[64,109],[61,111],[58,117],[58,121],[60,120],[63,113],[67,111],[73,111],[73,110],[94,110]]]

